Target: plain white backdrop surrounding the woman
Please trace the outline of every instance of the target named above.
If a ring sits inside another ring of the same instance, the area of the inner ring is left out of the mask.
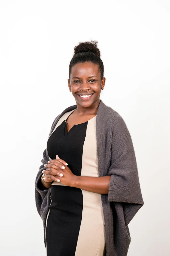
[[[74,46],[96,40],[100,98],[125,120],[144,206],[128,256],[168,256],[169,1],[0,1],[0,254],[45,256],[35,177],[54,118],[76,104],[67,79]],[[89,255],[90,256],[90,255]]]

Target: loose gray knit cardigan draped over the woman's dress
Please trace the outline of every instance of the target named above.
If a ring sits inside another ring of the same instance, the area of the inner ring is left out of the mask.
[[[76,108],[77,105],[70,106],[59,114],[52,123],[50,134],[59,118]],[[96,140],[99,176],[111,175],[108,195],[101,194],[106,230],[105,255],[126,256],[131,242],[128,224],[144,202],[129,130],[120,114],[106,106],[101,99],[96,116]],[[43,220],[45,247],[50,188],[46,189],[42,185],[41,171],[46,170],[44,164],[49,160],[46,148],[35,179],[35,203]]]

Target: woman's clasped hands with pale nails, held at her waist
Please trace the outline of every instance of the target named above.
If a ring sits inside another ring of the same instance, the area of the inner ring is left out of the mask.
[[[42,171],[45,174],[43,178],[45,182],[49,183],[53,180],[57,182],[61,181],[62,184],[72,187],[77,176],[72,173],[67,165],[68,163],[60,159],[58,155],[56,155],[56,159],[44,164],[47,167],[46,170]]]

